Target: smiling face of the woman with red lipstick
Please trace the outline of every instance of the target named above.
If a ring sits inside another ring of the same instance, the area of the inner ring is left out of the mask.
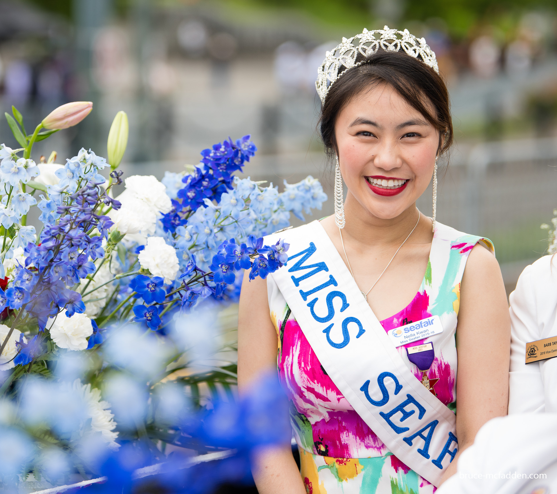
[[[355,199],[375,217],[395,218],[429,185],[439,133],[391,86],[354,97],[336,119],[335,137],[347,204]]]

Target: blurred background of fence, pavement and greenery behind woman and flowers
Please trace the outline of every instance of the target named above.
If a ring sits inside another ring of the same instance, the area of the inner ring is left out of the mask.
[[[557,207],[556,14],[553,0],[0,0],[0,109],[15,105],[32,129],[60,104],[94,102],[84,123],[36,145],[37,161],[81,146],[106,155],[125,110],[128,176],[160,179],[252,134],[246,175],[281,190],[311,174],[331,197],[317,66],[363,27],[408,28],[436,52],[452,100],[437,217],[494,241],[508,293],[545,252],[540,224]],[[4,119],[0,142],[18,147]],[[431,215],[431,190],[418,206]]]

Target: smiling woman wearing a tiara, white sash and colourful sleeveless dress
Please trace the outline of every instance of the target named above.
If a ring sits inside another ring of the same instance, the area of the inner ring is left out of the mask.
[[[316,87],[335,216],[270,236],[290,243],[287,267],[242,285],[240,389],[278,364],[301,457],[300,477],[288,446],[261,453],[257,488],[429,494],[507,412],[501,272],[488,239],[435,221],[452,123],[426,41],[343,38]],[[432,175],[428,218],[416,200]]]

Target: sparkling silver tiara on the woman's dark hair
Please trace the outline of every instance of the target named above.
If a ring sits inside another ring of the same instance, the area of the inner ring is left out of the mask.
[[[381,35],[379,39],[374,36],[376,34]],[[358,43],[353,43],[356,38]],[[315,88],[321,98],[321,102],[325,101],[325,96],[327,96],[331,86],[346,70],[365,63],[365,60],[356,63],[358,52],[364,57],[368,57],[379,50],[379,48],[383,48],[385,51],[399,51],[402,48],[411,57],[421,57],[428,67],[431,67],[439,74],[435,52],[429,48],[424,38],[417,38],[411,35],[407,29],[397,31],[385,26],[384,29],[368,31],[364,28],[361,34],[353,36],[348,40],[343,38],[343,42],[340,45],[336,46],[334,50],[325,53],[325,60],[317,69],[317,80],[315,81]],[[341,66],[344,66],[345,69]]]

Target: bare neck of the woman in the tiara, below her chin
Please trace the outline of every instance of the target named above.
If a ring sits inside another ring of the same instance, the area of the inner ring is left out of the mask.
[[[361,248],[368,250],[372,246],[402,242],[416,226],[418,209],[414,203],[397,217],[382,219],[370,214],[353,195],[348,193],[344,204],[344,216],[346,218],[343,229],[344,241],[353,243],[353,248],[356,250],[360,245]],[[426,218],[423,220],[427,221]],[[431,222],[429,223],[431,231]]]

